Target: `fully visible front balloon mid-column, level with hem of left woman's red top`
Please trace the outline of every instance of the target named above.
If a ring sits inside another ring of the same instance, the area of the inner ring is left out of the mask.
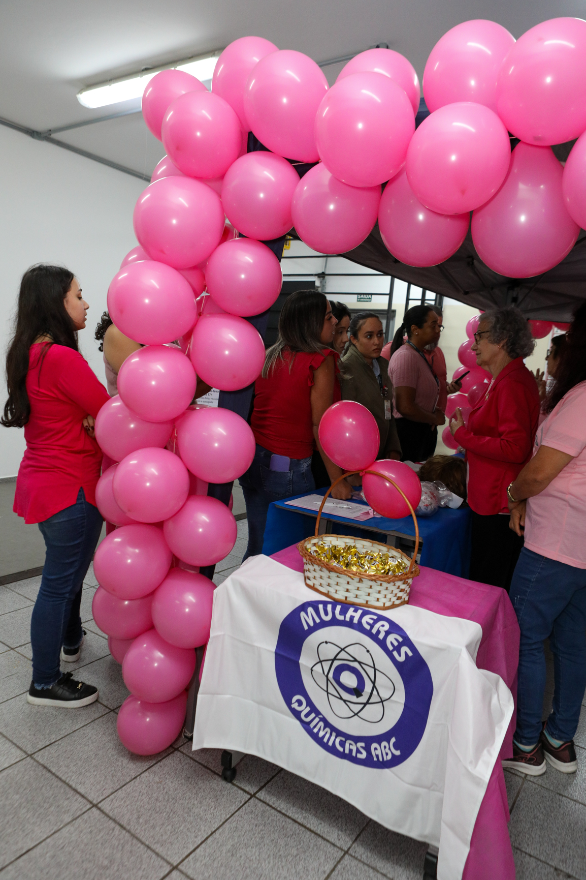
[[[139,449],[119,463],[112,489],[129,517],[139,523],[160,523],[183,507],[189,495],[189,474],[169,450]]]

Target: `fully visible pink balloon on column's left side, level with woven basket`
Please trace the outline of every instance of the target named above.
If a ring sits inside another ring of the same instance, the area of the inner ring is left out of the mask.
[[[171,551],[161,529],[143,523],[110,532],[94,556],[98,583],[120,599],[148,596],[163,581],[170,564]]]

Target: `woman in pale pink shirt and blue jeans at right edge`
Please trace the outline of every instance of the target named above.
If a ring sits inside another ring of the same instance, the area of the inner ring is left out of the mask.
[[[517,730],[503,761],[539,776],[546,762],[574,773],[586,688],[586,304],[568,330],[532,460],[509,488],[511,528],[525,534],[510,585],[521,629]],[[495,548],[496,550],[497,548]],[[545,724],[543,642],[553,653],[553,708]]]

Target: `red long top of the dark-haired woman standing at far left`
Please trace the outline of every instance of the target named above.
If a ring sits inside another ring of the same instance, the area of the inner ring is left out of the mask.
[[[102,451],[83,429],[86,415],[98,415],[110,400],[79,352],[52,345],[40,364],[45,342],[30,349],[26,392],[31,416],[25,424],[25,455],[20,463],[15,513],[25,523],[42,523],[76,503],[79,489],[96,505]]]

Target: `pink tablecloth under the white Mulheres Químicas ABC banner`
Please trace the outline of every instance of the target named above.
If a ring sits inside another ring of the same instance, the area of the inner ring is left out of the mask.
[[[303,571],[303,561],[295,545],[280,550],[271,558],[287,568]],[[500,675],[513,698],[517,698],[519,627],[517,615],[504,590],[422,567],[421,575],[411,585],[409,605],[480,624],[482,640],[476,665]],[[501,749],[502,757],[512,755],[515,723],[513,713]],[[496,761],[474,825],[463,880],[495,880],[496,877],[514,880],[515,863],[507,828],[509,818],[503,766]]]

